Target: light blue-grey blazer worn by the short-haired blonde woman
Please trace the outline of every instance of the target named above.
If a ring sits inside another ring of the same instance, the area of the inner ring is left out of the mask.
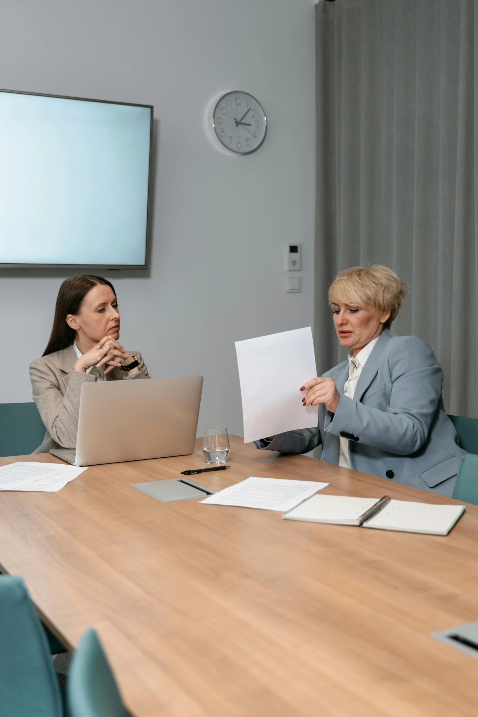
[[[350,439],[354,470],[451,496],[466,451],[444,412],[443,372],[428,343],[383,331],[353,399],[343,393],[348,361],[323,375],[332,376],[340,394],[335,414],[320,404],[317,428],[256,441],[258,448],[307,453],[322,444],[320,460],[338,465],[342,436]]]

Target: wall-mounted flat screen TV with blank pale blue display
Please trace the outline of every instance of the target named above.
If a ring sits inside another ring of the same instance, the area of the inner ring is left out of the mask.
[[[0,266],[145,268],[153,107],[0,90]]]

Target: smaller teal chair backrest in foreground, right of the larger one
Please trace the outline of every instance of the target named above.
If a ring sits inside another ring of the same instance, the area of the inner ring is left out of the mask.
[[[70,717],[128,717],[95,630],[83,633],[67,683]]]

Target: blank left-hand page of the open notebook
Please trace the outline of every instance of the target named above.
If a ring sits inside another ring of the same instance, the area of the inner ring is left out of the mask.
[[[353,523],[375,505],[378,498],[349,498],[347,495],[312,495],[282,516],[294,521]]]

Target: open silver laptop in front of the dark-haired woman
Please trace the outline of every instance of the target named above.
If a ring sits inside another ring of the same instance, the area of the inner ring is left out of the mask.
[[[202,376],[83,384],[77,447],[50,453],[73,465],[193,452]]]

